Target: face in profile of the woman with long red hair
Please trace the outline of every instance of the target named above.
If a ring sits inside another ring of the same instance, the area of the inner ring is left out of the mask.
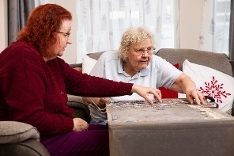
[[[71,38],[70,38],[70,31],[71,31],[71,20],[65,20],[62,22],[61,28],[58,34],[58,43],[55,46],[55,55],[56,56],[62,56],[65,48],[67,47],[67,44],[71,44]]]

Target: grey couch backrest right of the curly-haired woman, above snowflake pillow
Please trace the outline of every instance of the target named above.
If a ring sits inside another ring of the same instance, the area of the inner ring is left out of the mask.
[[[172,64],[179,63],[179,69],[182,70],[184,60],[192,63],[207,66],[219,70],[225,74],[232,76],[232,65],[228,56],[224,53],[215,53],[209,51],[201,51],[194,49],[174,49],[162,48],[158,50],[156,55],[166,59]]]

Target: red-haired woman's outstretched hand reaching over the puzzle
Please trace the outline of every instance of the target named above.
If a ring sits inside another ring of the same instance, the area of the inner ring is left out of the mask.
[[[132,86],[132,92],[135,92],[138,95],[142,96],[150,104],[153,104],[153,101],[152,101],[152,99],[149,98],[149,94],[153,94],[154,99],[158,100],[160,103],[162,103],[161,91],[156,89],[156,88],[143,87],[143,86],[139,86],[139,85],[134,84]]]

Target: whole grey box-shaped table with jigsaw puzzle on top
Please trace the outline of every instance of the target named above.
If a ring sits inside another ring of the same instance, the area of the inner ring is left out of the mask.
[[[233,156],[234,117],[185,99],[107,104],[111,156]]]

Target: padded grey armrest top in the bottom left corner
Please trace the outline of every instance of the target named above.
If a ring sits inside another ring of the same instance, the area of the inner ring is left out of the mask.
[[[27,139],[39,141],[40,134],[29,124],[16,121],[0,121],[0,144],[20,143]]]

